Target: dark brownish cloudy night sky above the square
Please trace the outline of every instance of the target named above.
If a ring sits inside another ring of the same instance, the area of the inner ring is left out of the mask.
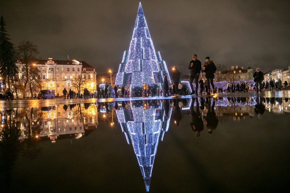
[[[156,51],[188,74],[193,54],[230,68],[262,72],[290,64],[290,1],[142,1]],[[139,1],[0,0],[0,15],[17,45],[38,45],[38,58],[85,60],[118,70],[129,49]]]

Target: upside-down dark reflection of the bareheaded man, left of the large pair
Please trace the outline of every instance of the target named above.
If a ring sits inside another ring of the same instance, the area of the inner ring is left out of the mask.
[[[201,98],[202,100],[203,98]],[[194,111],[194,102],[196,102],[196,112]],[[191,129],[194,131],[195,135],[200,136],[200,132],[203,130],[203,121],[201,118],[201,113],[199,111],[199,102],[198,99],[193,98],[190,105],[191,120],[190,123]]]

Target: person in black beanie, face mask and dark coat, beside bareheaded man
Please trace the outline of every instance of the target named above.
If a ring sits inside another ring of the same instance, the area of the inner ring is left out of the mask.
[[[209,60],[209,57],[205,58],[205,65],[203,67],[203,71],[205,72],[205,78],[207,80],[207,88],[209,89],[207,94],[210,94],[210,85],[213,88],[213,94],[215,94],[214,84],[213,84],[213,78],[214,78],[214,72],[217,70],[215,64],[213,63],[213,60]]]

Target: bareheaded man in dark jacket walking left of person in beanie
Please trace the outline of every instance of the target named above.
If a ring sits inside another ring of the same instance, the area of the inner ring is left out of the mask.
[[[193,91],[193,80],[195,79],[195,94],[197,95],[198,90],[198,78],[201,73],[201,61],[197,60],[197,55],[192,56],[192,60],[189,62],[188,69],[190,70],[189,86],[192,90],[190,95],[194,94]]]

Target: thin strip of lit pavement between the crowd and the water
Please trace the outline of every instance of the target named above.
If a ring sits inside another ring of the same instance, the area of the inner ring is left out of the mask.
[[[136,98],[108,98],[108,99],[67,99],[62,98],[37,100],[37,99],[15,99],[13,101],[0,101],[0,109],[13,109],[20,107],[45,107],[61,104],[76,104],[76,103],[93,103],[93,102],[111,102],[111,101],[127,101],[127,100],[143,100],[143,99],[172,99],[172,98],[191,98],[191,97],[290,97],[290,90],[282,91],[263,91],[257,92],[242,92],[242,93],[217,93],[212,95],[198,95],[198,96],[178,96],[178,97],[136,97]]]

